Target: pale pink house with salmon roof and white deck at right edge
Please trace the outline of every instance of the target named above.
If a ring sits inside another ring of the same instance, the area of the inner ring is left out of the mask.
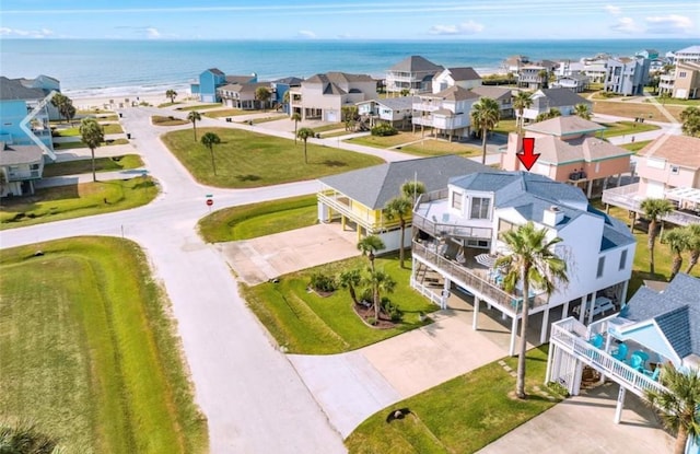
[[[606,189],[603,201],[625,208],[631,216],[643,213],[646,198],[670,200],[675,210],[662,219],[677,225],[700,223],[700,139],[664,135],[638,153],[639,182]]]

